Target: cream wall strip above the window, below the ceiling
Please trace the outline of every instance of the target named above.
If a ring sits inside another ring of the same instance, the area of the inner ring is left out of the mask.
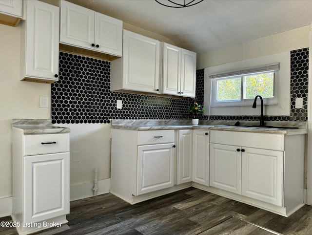
[[[256,29],[254,29],[256,30]],[[197,69],[309,47],[310,25],[197,54]]]

